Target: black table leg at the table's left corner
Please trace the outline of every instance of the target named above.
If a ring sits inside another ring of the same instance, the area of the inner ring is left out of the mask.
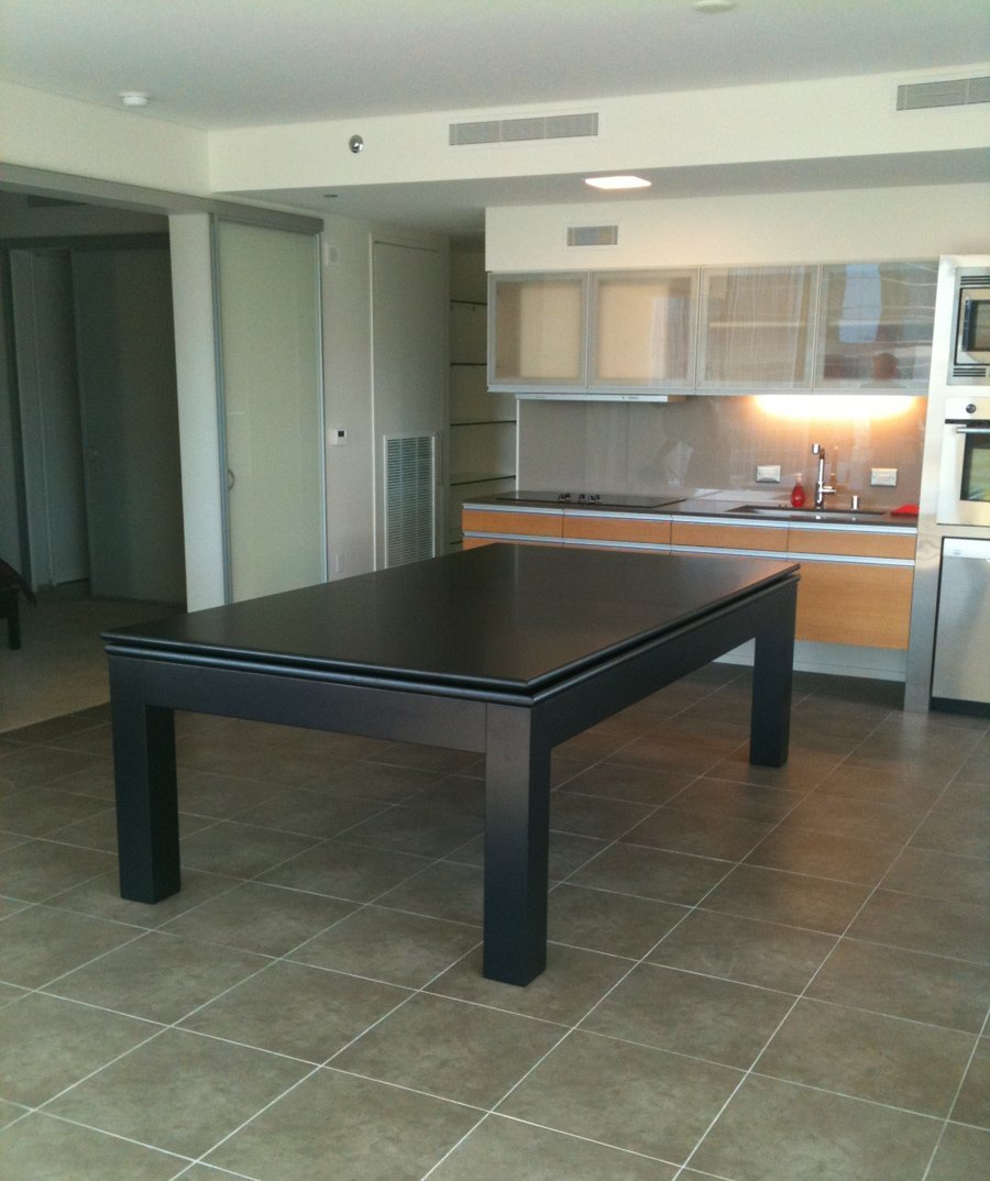
[[[145,704],[139,660],[109,664],[121,896],[157,902],[181,885],[175,712]]]

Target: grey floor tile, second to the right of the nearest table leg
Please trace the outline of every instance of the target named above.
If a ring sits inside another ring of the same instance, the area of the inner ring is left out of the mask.
[[[695,909],[649,960],[667,967],[797,993],[835,946],[833,935]]]

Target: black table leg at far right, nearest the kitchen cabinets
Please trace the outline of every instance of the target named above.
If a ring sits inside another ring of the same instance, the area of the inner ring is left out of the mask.
[[[797,581],[782,587],[774,602],[773,619],[756,633],[753,661],[749,761],[757,766],[783,766],[787,762]]]

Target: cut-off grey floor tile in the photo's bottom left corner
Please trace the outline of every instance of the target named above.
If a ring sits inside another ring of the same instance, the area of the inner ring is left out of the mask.
[[[169,1181],[183,1163],[155,1148],[40,1114],[0,1134],[4,1181]]]

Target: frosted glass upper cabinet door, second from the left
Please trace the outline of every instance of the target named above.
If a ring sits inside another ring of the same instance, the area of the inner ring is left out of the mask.
[[[695,384],[697,270],[592,275],[590,385]]]

